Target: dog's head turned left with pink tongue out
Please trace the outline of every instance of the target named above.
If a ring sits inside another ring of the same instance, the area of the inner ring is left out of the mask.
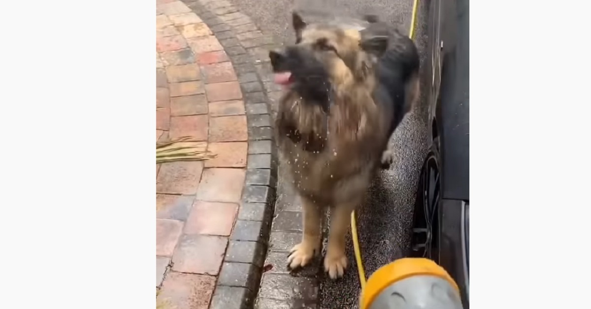
[[[388,35],[380,27],[356,30],[336,24],[307,24],[293,12],[296,43],[269,52],[275,83],[288,87],[327,110],[330,95],[339,87],[363,82],[387,48]],[[378,25],[366,17],[370,26]]]

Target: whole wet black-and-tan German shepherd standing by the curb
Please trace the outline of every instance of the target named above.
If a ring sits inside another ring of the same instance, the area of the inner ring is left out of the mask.
[[[342,277],[345,236],[376,170],[388,167],[388,139],[418,97],[417,49],[408,37],[368,17],[364,30],[306,24],[293,13],[296,44],[269,52],[284,85],[275,128],[300,194],[304,232],[288,266],[320,252],[321,218],[331,207],[324,269]]]

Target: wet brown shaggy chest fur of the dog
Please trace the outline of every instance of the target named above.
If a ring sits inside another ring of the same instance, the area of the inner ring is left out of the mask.
[[[329,114],[286,93],[275,123],[282,164],[302,195],[333,204],[365,191],[383,151],[384,123],[369,98],[342,102]]]

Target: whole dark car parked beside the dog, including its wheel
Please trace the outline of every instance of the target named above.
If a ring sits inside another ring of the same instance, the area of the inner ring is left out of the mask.
[[[431,0],[428,18],[429,151],[418,180],[411,255],[445,268],[469,309],[469,0]]]

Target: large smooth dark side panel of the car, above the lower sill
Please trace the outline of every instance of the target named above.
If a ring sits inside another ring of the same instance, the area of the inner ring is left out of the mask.
[[[468,2],[441,0],[443,50],[436,119],[441,143],[443,199],[470,199]]]

